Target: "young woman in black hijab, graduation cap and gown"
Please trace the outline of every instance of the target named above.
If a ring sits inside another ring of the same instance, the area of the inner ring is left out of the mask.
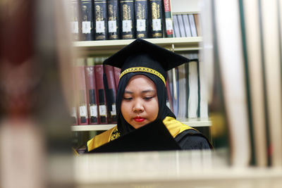
[[[121,68],[116,94],[118,125],[90,139],[87,151],[155,120],[162,120],[181,149],[211,149],[206,137],[176,120],[166,106],[166,71],[188,62],[189,59],[143,39],[136,39],[106,59],[104,64]]]

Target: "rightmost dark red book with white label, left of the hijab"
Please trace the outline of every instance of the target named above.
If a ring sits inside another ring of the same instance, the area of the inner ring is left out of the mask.
[[[114,77],[114,67],[111,65],[105,65],[106,80],[108,81],[109,93],[106,95],[109,99],[108,105],[111,105],[109,109],[109,123],[116,123],[116,83]],[[111,104],[109,104],[109,102]]]

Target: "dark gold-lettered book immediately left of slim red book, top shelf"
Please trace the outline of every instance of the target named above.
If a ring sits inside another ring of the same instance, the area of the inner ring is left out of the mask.
[[[161,0],[149,0],[150,30],[153,38],[163,37]]]

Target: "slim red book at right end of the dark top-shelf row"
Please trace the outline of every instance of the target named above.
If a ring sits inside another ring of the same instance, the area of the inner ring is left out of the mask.
[[[171,13],[171,1],[164,0],[164,18],[166,20],[166,37],[173,37],[173,25],[172,25],[172,13]]]

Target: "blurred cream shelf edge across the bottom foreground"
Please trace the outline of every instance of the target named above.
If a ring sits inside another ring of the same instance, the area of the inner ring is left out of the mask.
[[[75,157],[75,182],[79,188],[281,187],[281,177],[281,169],[231,168],[221,151],[149,151]]]

